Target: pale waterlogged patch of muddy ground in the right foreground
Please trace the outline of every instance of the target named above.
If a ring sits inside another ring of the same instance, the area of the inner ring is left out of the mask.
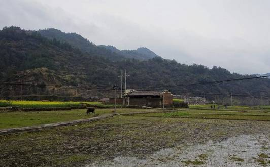
[[[162,149],[145,159],[119,156],[90,166],[268,166],[269,139],[265,135],[240,135],[222,142],[180,144]]]

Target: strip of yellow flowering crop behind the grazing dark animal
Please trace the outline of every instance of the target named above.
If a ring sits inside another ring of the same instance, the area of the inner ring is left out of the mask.
[[[60,101],[23,101],[23,100],[0,100],[0,107],[18,106],[20,108],[46,108],[46,107],[79,107],[82,103],[94,106],[113,107],[100,102],[60,102]],[[119,107],[118,105],[117,107]]]

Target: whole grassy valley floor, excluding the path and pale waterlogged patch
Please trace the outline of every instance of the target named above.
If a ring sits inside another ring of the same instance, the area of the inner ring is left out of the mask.
[[[114,109],[95,111],[95,114],[90,115],[86,115],[86,109],[2,112],[0,129],[91,118],[110,114]],[[162,149],[179,148],[183,151],[184,146],[188,147],[191,143],[200,145],[210,140],[219,143],[239,135],[250,134],[257,137],[258,134],[270,134],[270,108],[267,107],[263,110],[249,107],[234,107],[232,110],[191,108],[145,113],[149,111],[162,110],[120,108],[117,113],[141,113],[120,114],[76,126],[2,135],[0,151],[3,154],[0,154],[0,163],[3,166],[96,166],[95,162],[113,161],[118,156],[144,159]],[[267,136],[265,138],[267,139]],[[262,151],[270,148],[264,140],[261,142]],[[222,151],[222,148],[218,147]],[[238,148],[235,150],[238,151]],[[213,151],[206,150],[196,156],[207,158],[211,152]],[[163,162],[174,159],[163,155],[161,158]],[[253,158],[259,159],[256,155]],[[160,159],[157,159],[157,162],[159,163]],[[206,162],[207,159],[186,159],[179,162],[179,166]]]

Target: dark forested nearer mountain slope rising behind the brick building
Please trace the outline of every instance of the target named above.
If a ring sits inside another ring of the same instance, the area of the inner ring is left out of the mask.
[[[75,44],[72,46],[67,42],[45,38],[38,32],[24,31],[19,27],[3,28],[0,31],[0,96],[10,96],[10,84],[7,82],[27,82],[34,85],[13,85],[13,95],[106,97],[111,95],[112,91],[109,89],[114,84],[120,85],[118,76],[121,69],[127,69],[130,75],[128,88],[168,89],[174,94],[206,96],[208,100],[219,101],[226,101],[228,97],[214,94],[270,95],[270,79],[175,86],[250,76],[230,73],[216,66],[209,69],[203,65],[180,64],[161,57],[145,61],[112,61],[108,55],[100,56],[99,51],[85,52],[74,46]],[[138,52],[141,51],[144,52],[145,49],[139,49]],[[115,52],[110,51],[112,53]],[[75,89],[64,87],[67,85],[75,86]],[[85,89],[79,90],[76,87]]]

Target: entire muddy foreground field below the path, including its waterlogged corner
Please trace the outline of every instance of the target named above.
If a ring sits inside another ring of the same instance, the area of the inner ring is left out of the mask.
[[[0,165],[267,166],[269,134],[269,121],[115,116],[1,136]]]

